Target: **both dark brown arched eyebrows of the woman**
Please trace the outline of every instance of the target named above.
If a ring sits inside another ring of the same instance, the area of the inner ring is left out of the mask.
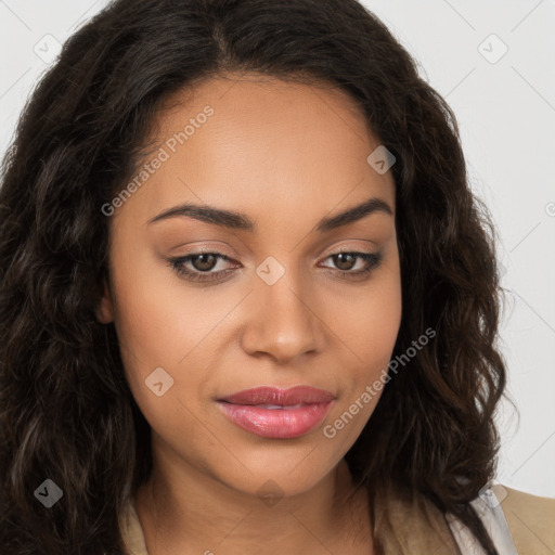
[[[358,206],[352,206],[346,210],[334,216],[322,218],[313,229],[319,233],[343,228],[350,223],[354,223],[366,216],[375,212],[383,212],[392,216],[393,212],[390,206],[382,198],[372,197]],[[212,206],[201,206],[195,204],[185,203],[179,206],[169,208],[158,216],[154,217],[147,222],[151,223],[166,220],[169,218],[189,217],[194,218],[206,223],[219,225],[230,230],[240,230],[247,232],[255,232],[257,230],[256,223],[248,218],[245,214],[224,210],[222,208],[215,208]]]

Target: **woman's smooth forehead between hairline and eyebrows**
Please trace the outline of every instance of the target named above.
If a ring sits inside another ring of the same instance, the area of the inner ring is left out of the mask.
[[[270,207],[270,218],[299,205],[297,217],[322,216],[369,196],[395,206],[390,172],[367,163],[378,139],[356,101],[330,85],[208,79],[166,99],[151,141],[145,162],[163,162],[126,203],[142,221],[185,201],[247,214]]]

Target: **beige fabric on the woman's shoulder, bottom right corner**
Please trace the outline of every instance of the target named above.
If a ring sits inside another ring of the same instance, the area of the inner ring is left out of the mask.
[[[492,487],[522,555],[555,553],[555,499],[532,495],[502,485]]]

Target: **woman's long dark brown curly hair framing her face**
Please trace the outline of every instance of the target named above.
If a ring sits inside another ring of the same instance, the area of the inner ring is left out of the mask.
[[[427,327],[436,336],[388,383],[346,460],[371,514],[395,488],[455,515],[495,554],[468,505],[495,472],[506,382],[495,230],[451,108],[357,0],[116,0],[36,87],[1,173],[3,552],[124,553],[118,515],[150,476],[151,430],[114,325],[96,320],[102,206],[133,175],[164,99],[230,72],[340,87],[396,156],[393,354]],[[64,494],[50,509],[33,494],[46,478]]]

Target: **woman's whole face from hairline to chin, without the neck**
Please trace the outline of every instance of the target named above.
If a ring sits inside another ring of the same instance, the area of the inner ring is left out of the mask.
[[[270,479],[306,491],[370,418],[398,334],[391,172],[379,151],[367,160],[379,142],[338,90],[219,78],[169,101],[147,168],[112,205],[99,319],[115,323],[159,467],[251,494]],[[260,386],[333,400],[222,401]]]

